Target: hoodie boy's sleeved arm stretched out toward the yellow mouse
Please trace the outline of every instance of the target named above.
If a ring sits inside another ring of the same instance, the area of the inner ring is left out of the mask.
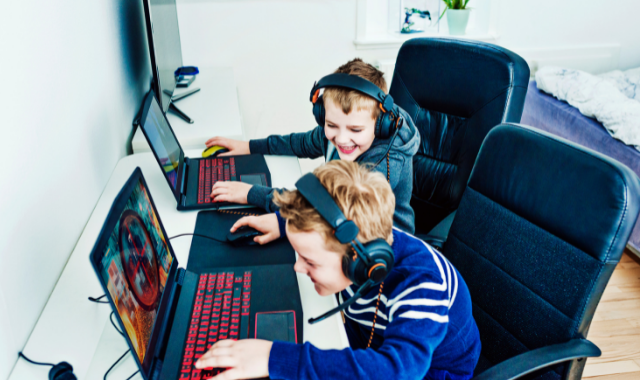
[[[317,126],[308,132],[250,140],[249,150],[255,154],[317,158],[324,155],[325,145],[324,128]]]

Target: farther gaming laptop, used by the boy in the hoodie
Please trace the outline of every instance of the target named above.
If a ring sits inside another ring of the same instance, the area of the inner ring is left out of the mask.
[[[189,158],[169,125],[151,90],[144,100],[140,128],[178,202],[178,210],[253,207],[230,202],[214,202],[211,189],[217,181],[242,181],[271,187],[271,173],[264,156]]]

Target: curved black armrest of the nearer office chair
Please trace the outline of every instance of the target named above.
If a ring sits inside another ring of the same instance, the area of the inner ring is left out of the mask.
[[[566,343],[538,348],[514,356],[475,376],[473,380],[511,380],[554,364],[578,358],[602,355],[595,344],[586,339],[572,339]]]

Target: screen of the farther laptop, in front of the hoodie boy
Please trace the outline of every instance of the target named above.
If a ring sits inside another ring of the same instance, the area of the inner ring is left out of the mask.
[[[160,162],[164,175],[175,192],[178,186],[178,169],[181,164],[182,149],[155,97],[153,95],[150,95],[150,97],[152,98],[151,104],[145,120],[142,121],[142,128],[149,140],[151,149],[155,152]]]

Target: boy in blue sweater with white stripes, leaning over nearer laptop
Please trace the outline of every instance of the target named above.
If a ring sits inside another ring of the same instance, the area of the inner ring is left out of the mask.
[[[470,379],[480,355],[469,291],[460,274],[423,241],[392,226],[395,202],[386,178],[346,161],[314,171],[344,216],[359,228],[363,245],[383,239],[395,263],[379,286],[344,310],[350,347],[321,350],[247,339],[215,343],[197,368],[227,368],[214,379]],[[300,191],[274,194],[279,213],[240,219],[266,244],[285,236],[298,252],[294,270],[306,274],[322,296],[341,302],[359,289],[345,273],[349,245]]]

